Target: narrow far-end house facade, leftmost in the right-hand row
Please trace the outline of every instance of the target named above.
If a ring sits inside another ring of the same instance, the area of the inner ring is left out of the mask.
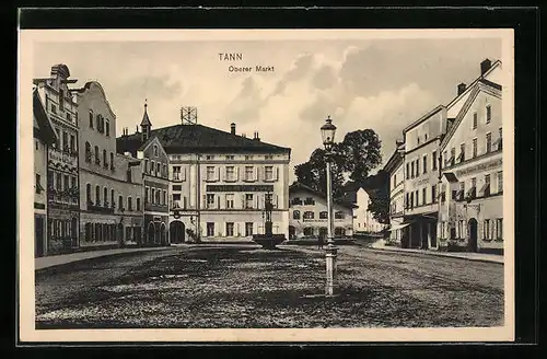
[[[405,143],[397,142],[397,148],[384,166],[389,174],[389,236],[387,241],[401,245],[407,239],[404,223],[405,216]]]

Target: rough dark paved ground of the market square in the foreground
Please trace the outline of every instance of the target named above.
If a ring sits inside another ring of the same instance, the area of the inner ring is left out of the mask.
[[[37,328],[492,326],[503,266],[341,246],[325,299],[315,247],[199,245],[98,257],[36,273]]]

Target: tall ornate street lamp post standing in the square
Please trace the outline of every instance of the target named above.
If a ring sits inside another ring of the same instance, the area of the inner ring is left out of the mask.
[[[331,151],[335,143],[336,126],[333,125],[330,116],[325,120],[325,125],[321,127],[321,136],[323,137],[323,144],[326,151],[327,162],[327,246],[325,247],[326,257],[326,283],[325,296],[331,297],[335,294],[335,278],[336,278],[336,257],[338,248],[334,244],[333,236],[333,183],[331,183]]]

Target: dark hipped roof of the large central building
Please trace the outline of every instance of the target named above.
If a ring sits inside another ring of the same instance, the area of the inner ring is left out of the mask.
[[[165,152],[196,153],[196,152],[289,152],[290,148],[248,139],[231,132],[225,132],[203,125],[174,125],[153,129],[150,136],[158,137]],[[118,153],[136,152],[141,147],[141,134],[126,135],[116,139]]]

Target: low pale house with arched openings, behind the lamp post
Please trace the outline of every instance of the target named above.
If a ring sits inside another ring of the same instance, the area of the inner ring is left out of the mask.
[[[315,238],[327,234],[327,198],[301,183],[289,187],[290,224],[289,239]],[[353,206],[349,202],[333,204],[334,236],[353,235]]]

